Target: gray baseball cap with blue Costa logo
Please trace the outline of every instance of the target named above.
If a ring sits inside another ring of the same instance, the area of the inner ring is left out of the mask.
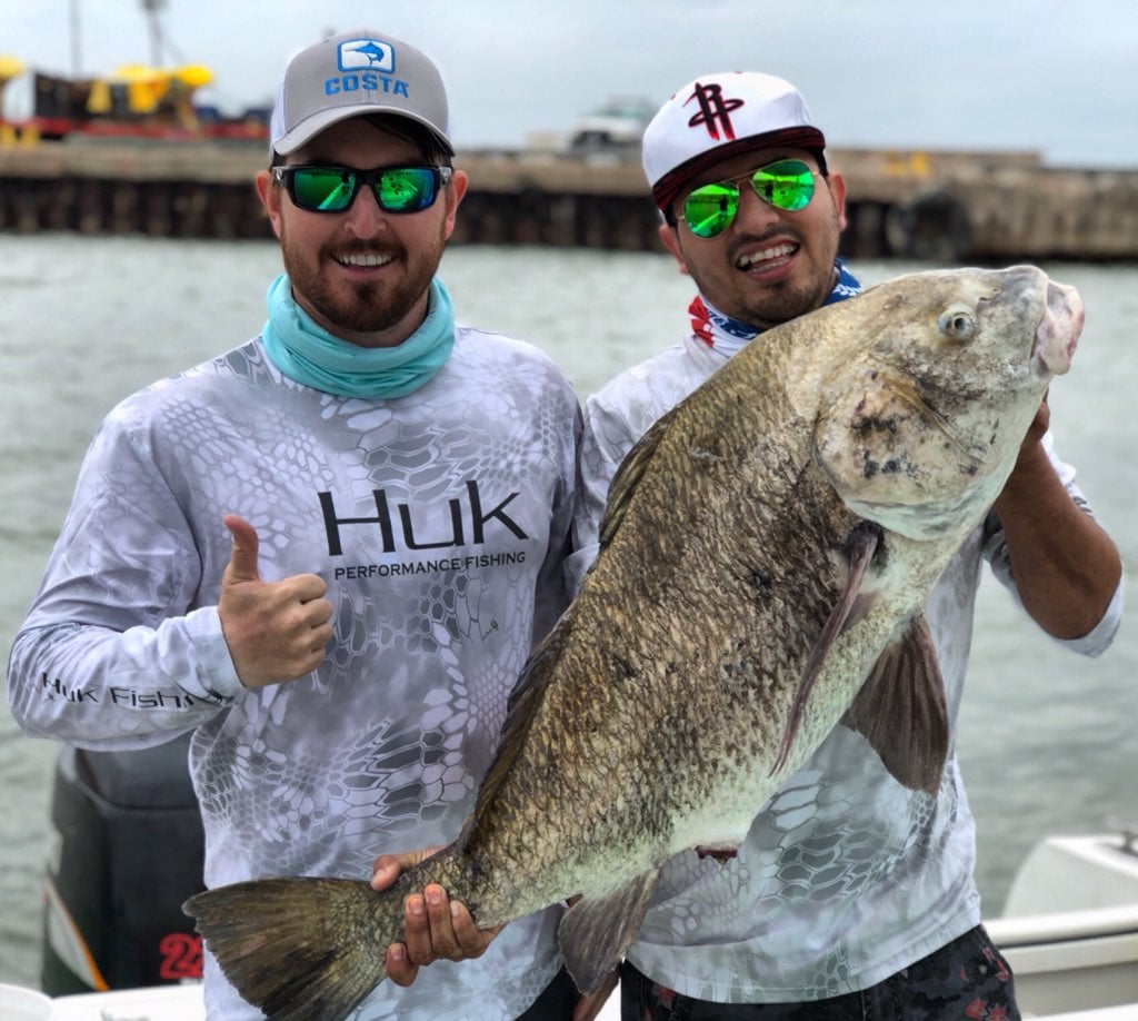
[[[362,114],[417,121],[454,155],[438,67],[413,46],[370,30],[329,36],[289,60],[270,124],[272,150],[287,156],[332,124]]]

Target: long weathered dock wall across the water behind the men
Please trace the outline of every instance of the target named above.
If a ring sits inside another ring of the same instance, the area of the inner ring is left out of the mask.
[[[0,138],[0,230],[267,238],[263,146]],[[1138,259],[1138,169],[1061,169],[1033,153],[838,149],[843,252],[959,262]],[[463,153],[455,244],[660,250],[635,154]]]

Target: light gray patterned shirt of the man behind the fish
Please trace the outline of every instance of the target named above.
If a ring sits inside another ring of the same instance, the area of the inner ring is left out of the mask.
[[[596,555],[620,462],[724,361],[688,336],[586,401],[570,557],[576,585]],[[1049,435],[1045,444],[1050,452]],[[1074,473],[1054,454],[1052,459],[1089,509]],[[950,562],[926,606],[954,730],[986,558],[1014,591],[1003,533],[990,516]],[[1098,627],[1063,645],[1097,654],[1120,619],[1121,585]],[[720,864],[688,851],[668,863],[628,959],[653,982],[716,1003],[808,1002],[859,991],[979,924],[974,858],[974,824],[955,758],[935,795],[915,793],[885,771],[858,734],[838,727],[764,807],[737,857]]]

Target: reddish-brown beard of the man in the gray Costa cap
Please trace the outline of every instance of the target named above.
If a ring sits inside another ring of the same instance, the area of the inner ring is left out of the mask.
[[[380,333],[397,326],[422,299],[438,269],[444,242],[429,248],[420,248],[414,256],[406,252],[380,251],[374,246],[356,245],[347,250],[337,246],[339,255],[385,254],[393,255],[395,263],[403,266],[405,273],[394,281],[366,280],[351,285],[338,281],[331,286],[322,269],[332,261],[328,251],[311,255],[289,244],[287,234],[281,234],[281,254],[284,271],[302,303],[314,313],[314,318],[331,333],[345,334]]]

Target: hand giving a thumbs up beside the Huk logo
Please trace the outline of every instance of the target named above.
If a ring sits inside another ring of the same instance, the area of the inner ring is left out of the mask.
[[[332,639],[332,604],[316,574],[263,581],[257,531],[245,518],[222,518],[233,549],[221,579],[217,613],[237,676],[249,688],[294,680],[320,665]]]

